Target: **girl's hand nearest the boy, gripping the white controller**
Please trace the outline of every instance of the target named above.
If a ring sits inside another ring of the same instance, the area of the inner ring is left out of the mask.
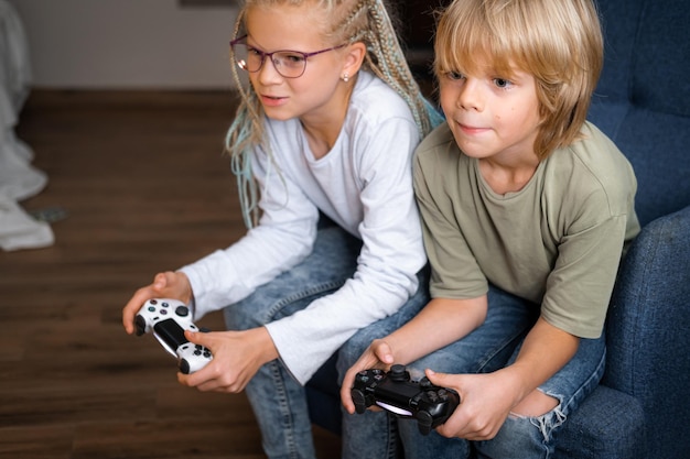
[[[181,384],[202,392],[241,392],[262,364],[278,358],[278,350],[266,327],[207,334],[187,330],[184,336],[213,353],[213,360],[200,371],[177,373]]]

